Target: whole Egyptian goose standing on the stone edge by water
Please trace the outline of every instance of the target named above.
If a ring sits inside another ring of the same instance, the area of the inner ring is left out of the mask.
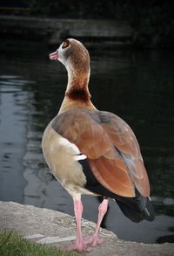
[[[131,128],[117,115],[98,111],[90,101],[90,56],[84,45],[66,39],[50,59],[64,64],[68,85],[57,116],[43,133],[43,156],[74,201],[77,238],[66,249],[90,251],[103,242],[98,232],[109,197],[132,221],[153,220],[150,184]],[[96,230],[85,239],[81,231],[84,194],[104,197]]]

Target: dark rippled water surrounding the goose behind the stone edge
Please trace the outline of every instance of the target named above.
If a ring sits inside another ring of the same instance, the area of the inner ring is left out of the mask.
[[[54,51],[51,49],[50,51]],[[64,66],[40,45],[4,47],[0,58],[0,200],[73,215],[70,196],[43,161],[43,129],[57,114],[67,83]],[[157,217],[133,224],[110,200],[106,228],[146,243],[174,237],[174,54],[93,51],[90,93],[98,109],[122,117],[140,143]],[[83,197],[84,218],[96,221],[96,197]]]

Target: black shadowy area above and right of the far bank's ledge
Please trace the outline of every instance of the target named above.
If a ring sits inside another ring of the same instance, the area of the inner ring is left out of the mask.
[[[126,20],[136,47],[173,47],[174,2],[144,0],[10,0],[0,1],[0,13],[27,17]]]

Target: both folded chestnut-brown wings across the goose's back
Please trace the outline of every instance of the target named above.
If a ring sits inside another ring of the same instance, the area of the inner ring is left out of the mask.
[[[149,196],[149,181],[139,146],[131,128],[115,114],[70,110],[52,124],[87,156],[90,169],[106,189],[134,197],[135,186]]]

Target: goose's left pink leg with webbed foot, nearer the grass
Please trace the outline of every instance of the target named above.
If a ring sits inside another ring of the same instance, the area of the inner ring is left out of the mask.
[[[83,210],[84,207],[81,199],[74,200],[74,212],[77,222],[77,237],[75,241],[70,243],[70,245],[65,248],[66,251],[90,252],[90,248],[88,248],[88,246],[84,243],[84,238],[82,236],[81,219]]]

